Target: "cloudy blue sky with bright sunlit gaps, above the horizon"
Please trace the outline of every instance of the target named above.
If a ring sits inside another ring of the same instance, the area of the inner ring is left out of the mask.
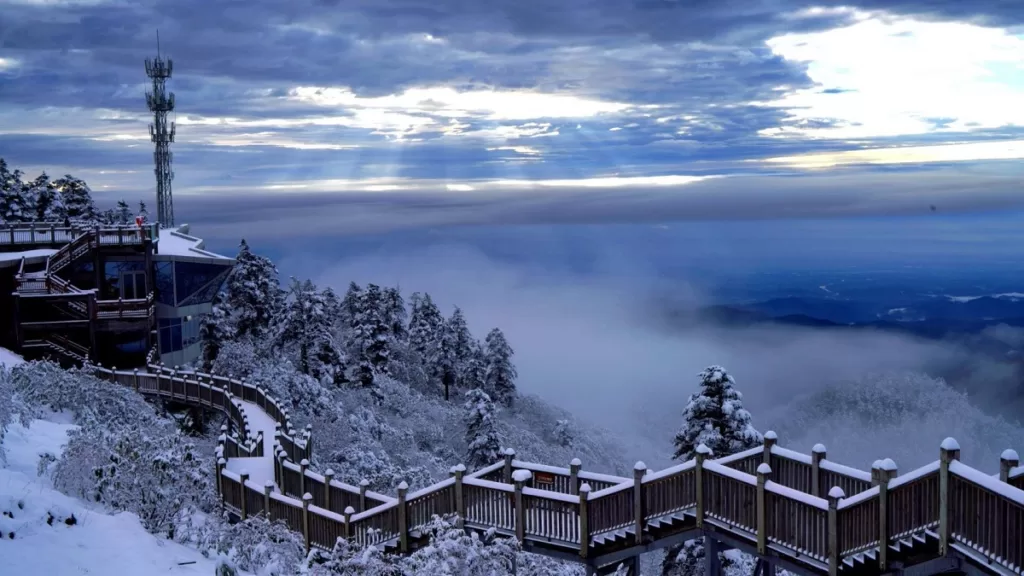
[[[154,194],[143,59],[159,29],[179,214],[372,232],[1024,205],[1024,2],[0,0],[0,156],[84,177],[101,202]]]

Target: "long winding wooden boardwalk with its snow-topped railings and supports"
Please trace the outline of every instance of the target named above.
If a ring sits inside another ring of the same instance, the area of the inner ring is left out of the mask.
[[[312,433],[292,427],[288,410],[243,380],[179,373],[98,369],[140,394],[219,410],[233,422],[218,445],[217,490],[240,519],[267,515],[331,549],[338,538],[408,553],[426,543],[435,516],[457,516],[468,530],[494,529],[524,549],[579,562],[592,573],[639,554],[705,538],[709,549],[736,548],[759,559],[759,572],[783,568],[817,576],[908,576],[942,572],[1020,575],[1024,566],[1024,466],[1007,450],[997,477],[959,461],[946,439],[939,459],[899,475],[892,460],[870,472],[778,446],[724,458],[700,450],[693,460],[632,478],[588,472],[578,460],[557,467],[517,460],[467,471],[395,497],[315,471]],[[278,423],[272,443],[253,435],[239,401],[258,405]],[[701,447],[702,448],[702,447]],[[226,458],[274,453],[274,480],[263,486],[225,469]],[[716,558],[715,554],[710,554]],[[714,575],[716,563],[708,569]]]

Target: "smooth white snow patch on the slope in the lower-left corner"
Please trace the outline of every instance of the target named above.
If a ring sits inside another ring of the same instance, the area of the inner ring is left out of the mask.
[[[34,420],[29,428],[16,423],[8,427],[7,467],[0,468],[0,573],[213,574],[215,561],[157,538],[134,515],[105,513],[57,492],[37,476],[39,455],[59,454],[73,427],[46,420]],[[72,516],[75,521],[69,526],[65,521]]]

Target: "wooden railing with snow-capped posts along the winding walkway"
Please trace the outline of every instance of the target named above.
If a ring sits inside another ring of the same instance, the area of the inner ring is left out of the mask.
[[[338,482],[330,470],[321,474],[310,469],[308,428],[295,431],[288,411],[264,388],[241,379],[175,372],[160,365],[152,365],[151,370],[108,372],[113,379],[134,385],[143,394],[172,396],[225,411],[232,420],[239,420],[240,427],[245,424],[242,401],[257,404],[280,423],[282,431],[275,435],[272,447],[281,493],[267,491],[223,466],[218,466],[218,486],[227,509],[243,518],[266,512],[271,519],[283,520],[305,535],[307,546],[331,548],[341,537],[352,538],[360,545],[387,544],[404,551],[410,549],[411,535],[434,516],[457,515],[470,527],[492,528],[563,549],[575,548],[586,557],[591,548],[604,545],[608,537],[617,537],[608,535],[632,534],[638,518],[642,527],[655,526],[672,516],[691,518],[680,516],[686,511],[700,517],[698,527],[702,522],[705,526],[731,530],[734,536],[750,535],[759,550],[790,550],[787,553],[794,558],[809,563],[812,571],[830,570],[865,553],[872,562],[884,563],[881,549],[911,536],[942,530],[948,530],[950,545],[963,546],[1004,569],[1019,570],[1024,564],[1024,545],[1019,533],[1013,532],[1024,527],[1024,490],[961,463],[958,449],[954,456],[948,456],[951,462],[946,483],[939,482],[938,463],[902,476],[895,476],[895,466],[891,466],[886,469],[892,477],[884,477],[884,470],[879,468],[876,486],[849,497],[828,499],[787,486],[810,489],[812,476],[808,467],[814,464],[806,455],[774,446],[720,459],[690,460],[648,475],[640,469],[634,480],[592,475],[623,482],[593,492],[586,487],[586,501],[558,489],[531,488],[525,485],[528,482],[512,484],[504,482],[504,477],[486,478],[504,475],[504,460],[475,474],[454,470],[453,478],[413,493],[400,489],[398,498],[392,498],[371,493],[366,486]],[[243,430],[243,438],[252,439],[252,431]],[[269,439],[261,440],[261,447],[270,446]],[[225,440],[218,447],[218,456],[228,452],[245,456],[255,453],[255,446],[252,442]],[[818,478],[823,471],[830,472],[837,475],[835,478],[848,479],[851,486],[863,482],[865,476],[871,478],[855,468],[827,462],[823,449],[816,447],[816,453],[818,470],[814,476]],[[758,454],[762,461],[755,466],[755,474],[737,469],[750,469],[749,462],[756,461]],[[301,456],[302,461],[296,463],[296,456]],[[764,461],[766,456],[769,462]],[[523,470],[517,472],[517,481],[522,480],[518,474],[562,476],[565,470],[511,462],[516,470]],[[579,469],[575,475],[584,476]],[[1024,475],[1014,467],[1009,480],[1020,476]],[[949,493],[940,497],[942,486]],[[637,497],[638,489],[642,490],[641,497]],[[842,494],[836,488],[829,492]],[[947,513],[939,513],[939,502],[947,502]],[[638,503],[641,508],[637,508]],[[881,516],[883,510],[886,522]],[[994,516],[976,516],[989,512]],[[947,528],[939,527],[940,522],[947,522]],[[835,535],[831,526],[836,527]],[[585,532],[582,527],[586,527]],[[830,544],[833,537],[835,548]]]

